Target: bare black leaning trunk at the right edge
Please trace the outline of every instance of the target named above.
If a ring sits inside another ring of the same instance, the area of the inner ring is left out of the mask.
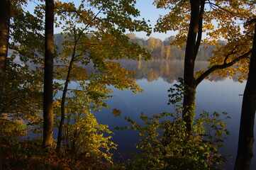
[[[235,170],[249,170],[253,157],[254,122],[256,111],[256,25],[250,58],[249,74],[243,95],[238,153]]]

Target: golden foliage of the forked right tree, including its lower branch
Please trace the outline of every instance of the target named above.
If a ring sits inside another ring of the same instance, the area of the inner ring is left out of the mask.
[[[155,31],[160,33],[166,33],[167,30],[178,31],[172,44],[184,46],[187,44],[189,23],[199,23],[196,25],[198,27],[196,28],[197,42],[192,43],[200,45],[200,50],[211,45],[216,47],[212,55],[208,56],[210,66],[208,69],[198,72],[194,77],[195,81],[201,81],[201,78],[209,79],[207,75],[210,73],[221,77],[233,77],[239,73],[240,81],[246,79],[248,54],[253,35],[253,27],[247,23],[255,18],[255,4],[252,1],[243,0],[194,1],[199,8],[193,13],[199,13],[200,17],[191,20],[191,2],[193,1],[155,0],[154,4],[157,8],[169,10],[169,13],[158,18]],[[224,45],[219,43],[220,39],[226,43]],[[196,49],[194,54],[196,60],[198,60],[200,50]],[[197,52],[198,54],[196,54]],[[231,67],[232,65],[233,67]],[[200,76],[201,78],[198,79]]]

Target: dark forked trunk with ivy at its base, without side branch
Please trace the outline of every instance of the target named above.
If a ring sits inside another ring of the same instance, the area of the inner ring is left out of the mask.
[[[191,134],[194,120],[196,82],[194,79],[194,62],[196,60],[196,36],[199,33],[200,0],[190,1],[191,19],[184,60],[184,101],[182,116],[186,123],[187,133]]]

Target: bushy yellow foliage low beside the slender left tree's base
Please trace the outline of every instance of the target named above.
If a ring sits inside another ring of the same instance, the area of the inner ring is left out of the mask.
[[[99,106],[90,106],[90,99],[85,91],[74,91],[74,96],[67,98],[66,121],[64,124],[64,135],[62,137],[63,147],[66,154],[74,157],[99,160],[106,159],[112,162],[110,149],[116,149],[111,142],[112,132],[108,125],[101,125],[96,121],[91,109]],[[104,102],[101,102],[102,104]],[[98,103],[100,105],[100,101]],[[104,105],[104,104],[103,104]],[[60,115],[60,102],[55,103],[56,120]]]

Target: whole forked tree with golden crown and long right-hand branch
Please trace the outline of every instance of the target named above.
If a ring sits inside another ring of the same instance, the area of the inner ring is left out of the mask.
[[[183,118],[187,123],[187,132],[192,130],[195,110],[196,87],[208,75],[216,73],[221,77],[231,77],[236,72],[246,73],[252,38],[248,36],[250,28],[241,25],[252,17],[255,6],[247,1],[165,1],[155,0],[157,8],[165,8],[170,12],[157,21],[156,31],[165,33],[177,30],[173,44],[186,45],[184,58],[184,93]],[[213,24],[214,23],[214,24]],[[205,37],[205,38],[204,38]],[[226,45],[218,45],[217,40],[223,38]],[[194,65],[200,45],[216,45],[213,57],[208,61],[206,70],[194,73]],[[234,67],[231,67],[234,66]],[[244,77],[239,77],[243,79]]]

